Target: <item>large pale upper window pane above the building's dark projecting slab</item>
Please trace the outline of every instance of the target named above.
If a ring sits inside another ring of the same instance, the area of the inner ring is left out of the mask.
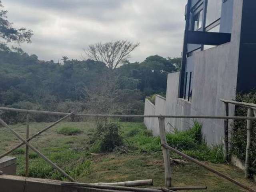
[[[206,12],[206,26],[220,19],[222,0],[208,0]]]

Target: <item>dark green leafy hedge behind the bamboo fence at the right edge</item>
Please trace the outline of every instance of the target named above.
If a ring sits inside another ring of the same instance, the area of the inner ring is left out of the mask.
[[[237,93],[236,100],[239,102],[247,102],[256,104],[256,89],[251,90],[248,93]],[[236,106],[236,116],[247,116],[247,108],[242,106]],[[233,123],[233,134],[232,134],[232,154],[245,161],[246,156],[246,142],[247,142],[247,130],[246,121],[235,120]],[[256,159],[256,122],[252,122],[252,136],[250,145],[250,162]],[[256,164],[250,168],[251,174],[256,173]]]

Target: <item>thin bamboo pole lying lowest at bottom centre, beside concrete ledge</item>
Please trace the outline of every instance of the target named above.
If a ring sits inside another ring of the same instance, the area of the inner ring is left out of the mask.
[[[73,186],[73,187],[100,188],[100,189],[120,190],[120,191],[134,191],[134,192],[162,192],[162,190],[152,189],[152,188],[135,188],[135,187],[124,187],[124,186],[112,186],[112,185],[95,185],[95,184],[73,183],[73,182],[61,182],[60,185]]]

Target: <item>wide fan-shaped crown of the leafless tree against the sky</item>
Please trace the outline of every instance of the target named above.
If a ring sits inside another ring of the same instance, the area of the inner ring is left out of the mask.
[[[90,59],[106,63],[110,71],[113,71],[118,65],[122,64],[122,62],[129,57],[130,52],[139,45],[140,43],[118,40],[103,44],[91,44],[84,52]]]

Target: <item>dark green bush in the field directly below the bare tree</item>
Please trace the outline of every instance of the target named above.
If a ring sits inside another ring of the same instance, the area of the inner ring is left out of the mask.
[[[120,124],[110,122],[105,125],[98,124],[94,135],[94,152],[109,152],[114,148],[123,144],[123,139],[120,134]]]

